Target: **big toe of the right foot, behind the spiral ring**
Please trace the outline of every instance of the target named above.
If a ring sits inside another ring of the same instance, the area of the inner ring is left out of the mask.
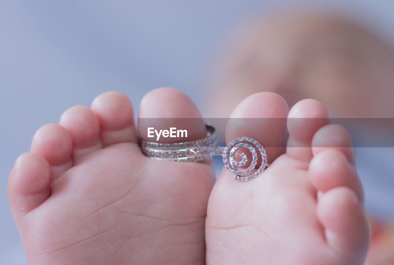
[[[285,152],[287,114],[288,106],[281,96],[271,92],[253,94],[240,102],[232,112],[226,125],[226,141],[230,143],[239,137],[253,138],[266,150],[268,163],[272,163]],[[243,149],[235,153],[236,159],[239,159],[241,151]],[[251,161],[251,153],[245,151],[247,160]],[[256,167],[259,167],[260,159]],[[249,162],[245,166],[249,166]],[[227,189],[238,189],[238,182],[234,180],[234,175],[225,169],[215,187],[222,187],[223,192],[227,193]]]

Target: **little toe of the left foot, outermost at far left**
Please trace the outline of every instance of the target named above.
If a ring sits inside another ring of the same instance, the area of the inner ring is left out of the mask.
[[[50,196],[50,165],[35,153],[24,153],[9,174],[7,194],[14,215],[27,213]]]

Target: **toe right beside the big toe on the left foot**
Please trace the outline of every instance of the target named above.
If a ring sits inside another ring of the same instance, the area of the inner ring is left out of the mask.
[[[93,100],[91,108],[99,118],[104,147],[117,143],[137,143],[133,106],[125,94],[103,93]]]

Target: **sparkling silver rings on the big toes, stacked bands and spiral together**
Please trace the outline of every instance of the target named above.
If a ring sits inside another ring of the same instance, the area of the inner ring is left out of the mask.
[[[257,140],[250,137],[240,137],[227,146],[218,146],[215,128],[206,124],[206,131],[204,139],[182,143],[156,143],[138,137],[139,146],[145,156],[167,161],[198,162],[219,154],[223,156],[225,167],[239,181],[252,180],[269,166],[266,150]],[[247,154],[240,154],[241,161],[235,159],[237,150],[241,148],[246,148],[251,152],[251,162],[247,168],[245,168],[248,163]],[[261,158],[261,164],[256,169],[259,157]]]

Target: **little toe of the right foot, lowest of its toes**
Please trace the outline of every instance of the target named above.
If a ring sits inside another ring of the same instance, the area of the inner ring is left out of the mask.
[[[337,187],[320,197],[318,219],[331,249],[347,263],[363,264],[369,243],[369,228],[357,195],[348,187]]]

